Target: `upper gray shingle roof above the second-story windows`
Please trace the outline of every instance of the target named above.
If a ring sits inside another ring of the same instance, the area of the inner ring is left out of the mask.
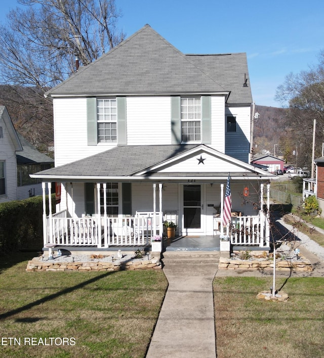
[[[232,92],[231,103],[251,103],[250,87],[243,89],[245,74],[249,77],[245,54],[184,55],[145,25],[47,95]]]

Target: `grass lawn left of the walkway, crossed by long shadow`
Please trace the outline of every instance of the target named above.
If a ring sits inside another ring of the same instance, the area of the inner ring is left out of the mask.
[[[145,356],[167,289],[163,271],[25,272],[27,261],[2,263],[1,337],[75,345],[1,345],[0,356]]]

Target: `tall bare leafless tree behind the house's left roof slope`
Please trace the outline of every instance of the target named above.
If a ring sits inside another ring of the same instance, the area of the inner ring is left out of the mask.
[[[0,83],[12,86],[11,101],[8,94],[0,101],[13,105],[22,93],[18,87],[27,87],[29,96],[23,102],[31,115],[20,122],[35,130],[34,121],[45,113],[53,121],[52,105],[44,93],[74,73],[75,57],[88,65],[123,41],[124,33],[116,29],[121,15],[114,0],[19,0],[19,4],[24,7],[12,10],[6,26],[0,26]],[[32,142],[47,141],[38,134]]]

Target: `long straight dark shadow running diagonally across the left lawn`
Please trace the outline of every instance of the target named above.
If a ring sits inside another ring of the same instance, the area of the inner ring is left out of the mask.
[[[0,314],[0,320],[9,318],[9,317],[11,317],[11,316],[13,316],[13,315],[15,315],[15,314],[17,314],[17,313],[21,313],[21,312],[26,311],[26,310],[28,310],[28,309],[30,309],[30,308],[33,308],[33,307],[38,306],[38,305],[41,305],[41,304],[43,304],[43,303],[45,303],[45,302],[54,300],[54,299],[56,299],[57,297],[60,297],[60,296],[62,296],[62,295],[69,294],[69,293],[71,293],[71,292],[73,292],[73,291],[75,291],[75,290],[78,290],[78,289],[80,289],[80,288],[85,287],[87,284],[96,282],[96,281],[98,281],[98,280],[100,280],[100,279],[102,279],[102,278],[104,278],[104,277],[106,277],[106,276],[108,276],[108,275],[111,275],[111,274],[113,274],[113,273],[115,273],[115,272],[117,272],[117,271],[108,271],[108,272],[105,272],[105,273],[103,273],[103,274],[100,275],[100,276],[96,276],[96,277],[90,278],[89,280],[86,280],[86,281],[84,281],[84,282],[78,283],[78,284],[76,284],[76,285],[73,286],[73,287],[69,287],[69,288],[67,288],[67,289],[58,291],[58,292],[56,292],[55,294],[48,295],[48,296],[43,297],[43,298],[41,298],[41,299],[39,299],[39,300],[36,300],[36,301],[34,301],[34,302],[30,302],[30,303],[28,303],[28,304],[26,304],[26,305],[24,305],[24,306],[22,306],[22,307],[19,307],[19,308],[13,309],[13,310],[11,310],[11,311],[8,311],[8,312],[6,312],[6,313]]]

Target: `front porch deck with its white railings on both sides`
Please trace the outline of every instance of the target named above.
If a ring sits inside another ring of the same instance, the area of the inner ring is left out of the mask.
[[[168,239],[163,220],[177,222],[169,213],[147,213],[147,216],[108,218],[101,216],[68,218],[67,210],[46,217],[44,249],[55,247],[69,250],[152,250],[152,239],[163,238],[163,250],[219,250],[220,237],[226,237],[237,249],[269,249],[267,218],[260,210],[258,216],[232,217],[231,225],[214,230],[214,235],[178,235]],[[160,229],[162,228],[162,229]]]

